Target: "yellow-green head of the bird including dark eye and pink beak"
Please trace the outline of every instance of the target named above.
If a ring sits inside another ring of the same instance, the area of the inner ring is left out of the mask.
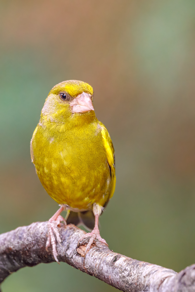
[[[95,117],[92,104],[93,88],[88,83],[78,80],[63,81],[49,92],[42,109],[42,115],[54,121],[78,119],[83,116]]]

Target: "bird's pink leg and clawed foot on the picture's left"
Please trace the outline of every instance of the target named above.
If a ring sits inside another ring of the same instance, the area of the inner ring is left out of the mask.
[[[47,242],[46,242],[46,251],[48,251],[48,247],[52,246],[52,252],[54,255],[54,258],[56,260],[56,262],[58,262],[57,259],[57,251],[56,251],[56,239],[57,242],[61,245],[61,238],[60,238],[60,234],[58,231],[58,224],[60,224],[61,221],[64,221],[64,224],[66,225],[66,221],[65,219],[60,215],[61,212],[64,211],[64,206],[62,205],[59,210],[49,219],[48,223],[47,223],[47,227],[48,227],[48,235],[47,235]],[[56,235],[56,239],[55,236]],[[58,262],[59,263],[59,262]]]

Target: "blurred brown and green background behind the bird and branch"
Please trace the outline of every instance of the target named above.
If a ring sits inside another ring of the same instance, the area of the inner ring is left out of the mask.
[[[50,89],[94,88],[116,154],[101,216],[113,251],[180,271],[195,263],[195,1],[1,1],[0,232],[58,209],[30,159]],[[65,213],[62,215],[65,215]],[[3,292],[114,291],[65,263],[27,267]]]

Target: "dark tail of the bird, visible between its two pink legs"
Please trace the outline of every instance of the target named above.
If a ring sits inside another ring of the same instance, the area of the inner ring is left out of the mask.
[[[65,219],[67,224],[83,225],[89,231],[93,230],[95,226],[95,216],[92,210],[84,212],[70,211],[68,218],[66,217]]]

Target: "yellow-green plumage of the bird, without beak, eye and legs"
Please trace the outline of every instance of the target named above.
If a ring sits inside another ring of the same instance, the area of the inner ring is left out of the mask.
[[[67,100],[59,93],[65,92]],[[115,188],[114,149],[94,110],[72,113],[70,102],[82,92],[82,81],[64,81],[52,88],[31,140],[31,157],[46,192],[72,211],[105,206]]]

